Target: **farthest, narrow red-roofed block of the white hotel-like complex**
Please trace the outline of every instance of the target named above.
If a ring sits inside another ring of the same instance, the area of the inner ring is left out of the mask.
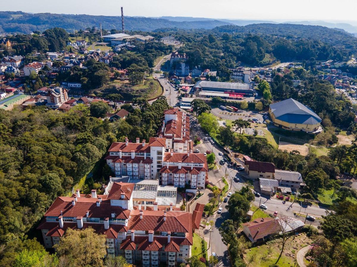
[[[157,133],[157,136],[166,138],[167,151],[173,149],[174,152],[192,153],[190,118],[186,112],[180,111],[178,108],[164,111],[161,131]]]

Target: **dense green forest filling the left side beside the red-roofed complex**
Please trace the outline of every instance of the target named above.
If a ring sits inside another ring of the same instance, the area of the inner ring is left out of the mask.
[[[22,249],[39,247],[27,240],[54,199],[68,194],[74,184],[93,169],[82,190],[90,192],[110,170],[102,159],[113,141],[149,140],[155,136],[162,112],[168,108],[161,97],[152,105],[136,100],[126,121],[97,119],[100,106],[76,105],[70,112],[44,107],[0,110],[0,266],[12,266]]]

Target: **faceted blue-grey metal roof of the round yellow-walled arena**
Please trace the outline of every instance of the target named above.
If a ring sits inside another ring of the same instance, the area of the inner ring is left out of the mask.
[[[308,106],[289,98],[270,104],[270,109],[278,120],[296,124],[318,124],[321,118]]]

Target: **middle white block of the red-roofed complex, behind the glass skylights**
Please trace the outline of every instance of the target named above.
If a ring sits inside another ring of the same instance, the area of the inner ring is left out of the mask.
[[[157,179],[162,185],[204,189],[208,179],[207,159],[200,153],[178,153],[166,150],[165,137],[151,137],[149,143],[136,138],[131,143],[114,142],[105,157],[116,177]]]

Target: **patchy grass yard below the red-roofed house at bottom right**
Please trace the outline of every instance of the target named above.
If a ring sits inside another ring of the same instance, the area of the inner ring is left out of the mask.
[[[296,253],[303,247],[309,245],[311,239],[305,234],[295,235],[290,238],[286,244],[284,252],[278,261],[279,267],[292,267],[295,264]],[[268,267],[274,264],[280,254],[279,242],[267,242],[267,244],[260,245],[259,247],[252,247],[245,251],[243,254],[244,261],[247,263],[252,259],[249,266]],[[294,257],[292,257],[293,255]]]

